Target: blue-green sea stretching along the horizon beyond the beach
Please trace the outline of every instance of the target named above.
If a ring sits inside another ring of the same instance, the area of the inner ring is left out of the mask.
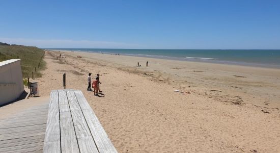
[[[231,65],[280,68],[280,49],[99,49],[99,48],[44,48],[119,54],[126,56],[209,62]]]

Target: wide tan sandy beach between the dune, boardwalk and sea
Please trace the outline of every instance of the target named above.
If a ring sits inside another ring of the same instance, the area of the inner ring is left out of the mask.
[[[40,96],[66,73],[119,152],[280,152],[280,69],[56,51],[45,61]],[[105,95],[87,91],[89,72]]]

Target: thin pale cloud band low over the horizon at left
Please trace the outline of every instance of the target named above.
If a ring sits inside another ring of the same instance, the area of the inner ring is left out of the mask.
[[[0,42],[41,48],[141,48],[141,45],[91,40],[0,38]]]

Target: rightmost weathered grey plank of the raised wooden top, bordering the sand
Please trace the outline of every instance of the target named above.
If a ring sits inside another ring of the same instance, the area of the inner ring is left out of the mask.
[[[111,143],[101,123],[91,109],[87,99],[83,96],[81,91],[75,91],[78,103],[81,106],[83,115],[86,118],[87,124],[93,136],[93,139],[100,152],[117,152],[113,143]]]

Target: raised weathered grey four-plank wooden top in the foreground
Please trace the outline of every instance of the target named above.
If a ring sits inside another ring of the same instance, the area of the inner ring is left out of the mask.
[[[79,90],[52,90],[44,152],[117,152]]]

